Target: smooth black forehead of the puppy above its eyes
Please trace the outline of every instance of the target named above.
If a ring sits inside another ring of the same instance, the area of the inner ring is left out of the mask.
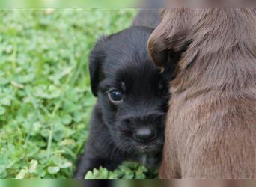
[[[124,82],[132,88],[151,88],[159,79],[159,71],[147,52],[151,30],[129,28],[109,37],[103,71],[113,82]]]

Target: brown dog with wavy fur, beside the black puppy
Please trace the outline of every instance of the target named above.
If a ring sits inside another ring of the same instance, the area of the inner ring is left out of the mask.
[[[148,43],[177,64],[161,178],[256,177],[256,9],[171,9]]]

